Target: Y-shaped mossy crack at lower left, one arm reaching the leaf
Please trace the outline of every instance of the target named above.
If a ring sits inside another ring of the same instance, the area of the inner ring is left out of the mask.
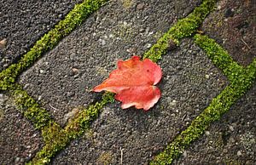
[[[102,95],[102,100],[94,105],[80,111],[79,116],[68,122],[66,128],[61,128],[49,115],[49,111],[41,108],[36,100],[27,94],[19,84],[13,84],[10,94],[18,110],[42,131],[44,147],[28,164],[47,164],[58,151],[64,149],[72,140],[83,134],[90,128],[91,122],[100,114],[102,107],[108,103],[113,103],[113,94],[106,92]]]

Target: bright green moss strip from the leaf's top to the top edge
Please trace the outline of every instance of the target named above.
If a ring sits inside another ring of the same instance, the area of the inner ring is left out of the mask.
[[[179,40],[184,37],[190,37],[197,28],[205,20],[207,14],[213,9],[216,0],[204,0],[199,7],[196,7],[194,11],[186,18],[178,20],[177,23],[167,31],[163,37],[155,43],[145,54],[143,59],[148,58],[154,62],[161,59],[162,54],[166,54],[167,49],[170,47],[170,42],[178,44]]]

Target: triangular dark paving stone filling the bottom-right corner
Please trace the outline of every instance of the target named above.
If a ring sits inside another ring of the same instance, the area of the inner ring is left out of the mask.
[[[174,164],[255,164],[256,85]]]

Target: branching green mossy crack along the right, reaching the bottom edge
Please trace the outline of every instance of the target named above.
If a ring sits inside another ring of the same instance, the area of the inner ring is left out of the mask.
[[[242,68],[233,61],[230,55],[214,40],[201,35],[195,35],[195,43],[204,49],[214,65],[219,67],[230,79],[230,85],[214,98],[206,110],[196,117],[188,128],[173,139],[166,150],[161,152],[150,164],[171,164],[172,161],[183,153],[191,142],[198,139],[209,125],[217,121],[230,110],[231,105],[247,92],[256,77],[256,59],[247,68]]]

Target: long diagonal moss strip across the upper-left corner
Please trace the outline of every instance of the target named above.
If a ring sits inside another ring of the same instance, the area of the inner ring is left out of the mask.
[[[61,38],[67,36],[73,29],[79,25],[96,9],[99,9],[103,3],[108,0],[84,0],[84,3],[75,5],[64,20],[61,20],[55,28],[45,34],[37,43],[27,52],[17,64],[10,65],[0,73],[0,90],[7,90],[15,83],[16,77],[27,67],[38,60],[46,51],[54,48]]]

